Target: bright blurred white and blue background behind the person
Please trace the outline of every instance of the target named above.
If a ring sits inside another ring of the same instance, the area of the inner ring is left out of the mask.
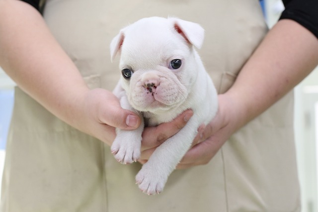
[[[284,9],[281,0],[260,0],[268,27]],[[13,107],[14,82],[0,68],[0,180]],[[295,88],[295,138],[302,212],[318,212],[318,69]],[[1,185],[0,185],[1,186]]]

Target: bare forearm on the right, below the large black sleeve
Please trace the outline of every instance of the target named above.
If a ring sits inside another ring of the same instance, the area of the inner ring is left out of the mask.
[[[246,62],[225,94],[236,129],[282,98],[318,65],[318,39],[297,22],[280,20]]]

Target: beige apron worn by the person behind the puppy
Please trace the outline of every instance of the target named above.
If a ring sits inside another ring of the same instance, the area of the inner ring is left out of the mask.
[[[267,31],[258,0],[48,0],[44,10],[89,87],[109,90],[120,76],[118,63],[110,63],[112,37],[147,16],[177,16],[205,28],[199,54],[219,93],[233,84]],[[60,121],[17,88],[1,210],[300,211],[292,97],[234,134],[209,164],[174,171],[163,193],[147,196],[135,185],[139,164],[119,164],[107,145]]]

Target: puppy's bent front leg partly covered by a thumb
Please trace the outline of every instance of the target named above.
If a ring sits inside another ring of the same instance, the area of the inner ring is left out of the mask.
[[[120,105],[124,109],[132,110],[139,113],[133,109],[127,99],[126,95],[122,95],[120,98]],[[144,120],[141,116],[142,123],[135,130],[122,130],[116,128],[116,138],[111,145],[111,152],[115,156],[116,160],[120,163],[127,164],[136,162],[140,157],[140,148],[142,133],[144,130]]]

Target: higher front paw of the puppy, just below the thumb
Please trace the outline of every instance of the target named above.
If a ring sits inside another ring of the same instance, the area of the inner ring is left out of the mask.
[[[111,153],[116,160],[122,164],[136,162],[140,157],[141,139],[134,139],[133,136],[125,136],[118,133],[111,145]]]

